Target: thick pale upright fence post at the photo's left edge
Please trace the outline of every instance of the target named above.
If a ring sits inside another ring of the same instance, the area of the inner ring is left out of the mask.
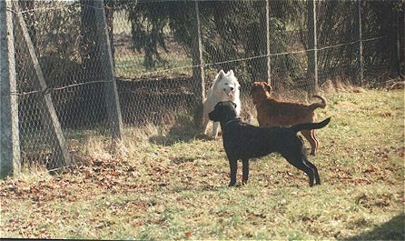
[[[0,178],[20,172],[18,99],[11,1],[0,1]]]

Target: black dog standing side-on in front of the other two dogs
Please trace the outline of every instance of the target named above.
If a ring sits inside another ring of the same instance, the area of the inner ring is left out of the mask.
[[[301,130],[320,129],[331,121],[327,118],[320,123],[298,124],[291,127],[259,127],[243,123],[236,115],[235,104],[231,101],[220,102],[209,114],[212,121],[221,123],[223,147],[231,167],[231,182],[236,184],[237,161],[242,159],[242,183],[248,181],[249,159],[266,156],[273,152],[280,153],[292,165],[310,177],[310,186],[321,185],[316,166],[311,164],[306,155],[306,148],[297,132]]]

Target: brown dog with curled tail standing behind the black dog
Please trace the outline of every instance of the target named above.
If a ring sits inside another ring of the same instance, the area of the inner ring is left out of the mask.
[[[293,126],[301,123],[314,123],[316,108],[325,108],[326,99],[320,95],[313,95],[321,99],[319,103],[306,105],[302,103],[282,102],[270,94],[272,87],[266,82],[254,82],[251,95],[253,104],[256,105],[259,126]],[[311,155],[315,156],[319,142],[314,130],[302,130],[311,145]]]

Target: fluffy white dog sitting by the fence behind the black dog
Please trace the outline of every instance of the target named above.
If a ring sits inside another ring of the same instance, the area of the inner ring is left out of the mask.
[[[225,74],[221,70],[218,75],[215,76],[212,87],[207,91],[207,98],[203,103],[203,118],[204,118],[204,134],[207,135],[208,123],[210,119],[208,118],[208,113],[212,112],[213,107],[221,101],[232,101],[236,104],[236,114],[241,114],[241,99],[239,91],[238,79],[230,70]],[[212,125],[212,137],[216,138],[218,136],[219,122],[214,122]]]

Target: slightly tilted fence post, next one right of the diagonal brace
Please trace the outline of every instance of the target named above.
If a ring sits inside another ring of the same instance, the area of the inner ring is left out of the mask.
[[[108,35],[107,20],[105,18],[104,1],[95,0],[95,24],[97,26],[98,47],[100,48],[101,63],[104,72],[105,105],[108,112],[108,122],[114,140],[122,139],[123,119],[115,79],[113,55],[111,52],[110,37]]]

